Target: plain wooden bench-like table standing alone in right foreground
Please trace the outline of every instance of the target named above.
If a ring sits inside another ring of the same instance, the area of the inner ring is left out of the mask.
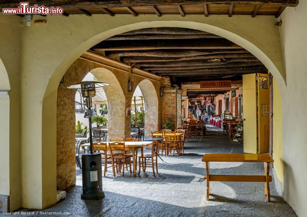
[[[274,162],[269,154],[204,154],[202,158],[206,162],[206,173],[204,179],[207,180],[207,200],[210,195],[210,181],[220,182],[264,182],[264,194],[270,202],[270,182],[272,176],[270,172],[270,162]],[[264,162],[264,176],[255,175],[210,175],[209,162]]]

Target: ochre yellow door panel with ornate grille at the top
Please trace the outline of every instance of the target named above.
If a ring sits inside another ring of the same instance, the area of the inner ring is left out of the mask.
[[[258,153],[268,153],[270,145],[270,75],[258,73]]]

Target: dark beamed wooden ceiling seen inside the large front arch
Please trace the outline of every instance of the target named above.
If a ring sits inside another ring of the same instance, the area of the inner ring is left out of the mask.
[[[267,72],[254,55],[220,36],[185,28],[147,28],[101,41],[91,51],[147,72],[170,76],[174,83],[202,79],[240,80]]]

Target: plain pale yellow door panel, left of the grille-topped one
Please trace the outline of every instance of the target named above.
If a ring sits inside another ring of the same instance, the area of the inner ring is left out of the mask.
[[[257,153],[257,86],[256,74],[243,75],[243,149],[245,153]]]

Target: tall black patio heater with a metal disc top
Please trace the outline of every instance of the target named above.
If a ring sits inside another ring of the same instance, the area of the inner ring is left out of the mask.
[[[108,83],[101,83],[97,81],[83,81],[72,84],[67,88],[80,89],[82,96],[86,99],[85,104],[88,108],[88,122],[90,133],[90,152],[82,154],[82,194],[81,199],[94,200],[104,197],[102,190],[102,168],[101,168],[101,154],[93,153],[92,141],[92,97],[96,95],[96,87],[103,87],[109,85]]]

